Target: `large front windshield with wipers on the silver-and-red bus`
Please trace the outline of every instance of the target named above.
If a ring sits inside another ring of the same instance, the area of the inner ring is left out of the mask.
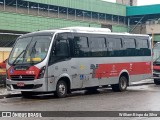
[[[51,36],[18,39],[9,57],[9,63],[13,65],[37,64],[43,61],[47,55],[51,39]]]

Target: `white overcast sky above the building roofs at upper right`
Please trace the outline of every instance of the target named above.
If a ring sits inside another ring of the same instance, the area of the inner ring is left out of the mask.
[[[104,0],[109,2],[116,2],[116,0]],[[160,0],[138,0],[138,5],[150,5],[150,4],[160,4]]]

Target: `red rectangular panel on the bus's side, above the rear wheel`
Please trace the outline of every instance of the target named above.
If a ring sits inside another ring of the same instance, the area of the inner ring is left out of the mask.
[[[134,62],[134,63],[112,63],[98,64],[95,70],[95,78],[106,78],[119,76],[122,70],[126,69],[129,75],[150,74],[151,62]]]

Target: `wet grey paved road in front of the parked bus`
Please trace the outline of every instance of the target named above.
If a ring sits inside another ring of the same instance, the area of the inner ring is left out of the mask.
[[[160,86],[154,84],[131,86],[126,92],[112,92],[110,88],[99,93],[88,94],[85,91],[74,92],[67,98],[56,99],[52,95],[32,98],[0,99],[0,111],[160,111]],[[74,118],[45,118],[73,119]],[[77,118],[82,120],[82,118]],[[84,119],[84,118],[83,118]],[[93,118],[85,118],[93,120]],[[96,120],[107,118],[94,118]],[[108,118],[119,120],[122,118]],[[123,118],[157,119],[158,118]]]

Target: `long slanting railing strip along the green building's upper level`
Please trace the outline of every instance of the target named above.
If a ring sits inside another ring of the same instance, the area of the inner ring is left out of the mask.
[[[27,15],[34,15],[34,16],[44,16],[44,17],[53,17],[53,18],[63,18],[63,19],[69,19],[69,20],[79,20],[79,21],[86,21],[86,22],[97,22],[97,23],[107,23],[107,24],[120,24],[124,25],[124,22],[122,21],[112,21],[112,20],[105,20],[105,19],[98,19],[98,18],[91,18],[87,16],[77,16],[74,14],[68,14],[67,13],[58,13],[54,11],[43,11],[38,9],[31,9],[31,8],[21,8],[21,7],[15,7],[15,6],[4,6],[0,5],[0,11],[6,11],[6,12],[12,12],[12,13],[21,13],[21,14],[27,14]]]

